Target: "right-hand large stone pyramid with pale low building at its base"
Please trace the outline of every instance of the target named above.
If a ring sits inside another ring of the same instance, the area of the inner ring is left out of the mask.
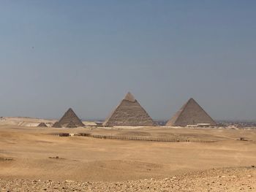
[[[217,126],[217,123],[191,98],[166,123],[166,126],[187,126],[197,125],[197,123],[208,123],[211,126]]]

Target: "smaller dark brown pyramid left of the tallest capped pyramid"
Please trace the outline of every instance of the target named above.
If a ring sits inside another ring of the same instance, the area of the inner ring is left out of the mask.
[[[59,124],[61,126],[66,127],[70,122],[74,123],[75,126],[78,126],[78,127],[84,126],[82,121],[78,118],[77,115],[75,115],[75,112],[71,108],[69,108],[69,110],[65,112],[63,117],[59,120]]]

